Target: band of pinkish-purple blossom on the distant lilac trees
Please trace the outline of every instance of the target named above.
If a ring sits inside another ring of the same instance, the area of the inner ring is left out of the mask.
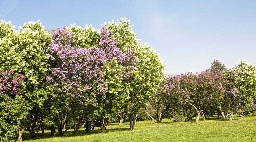
[[[215,74],[210,70],[201,73],[188,72],[166,77],[164,92],[182,96],[184,101],[212,100],[214,95],[224,94],[226,86],[225,77],[222,73]],[[199,99],[200,98],[200,99]]]

